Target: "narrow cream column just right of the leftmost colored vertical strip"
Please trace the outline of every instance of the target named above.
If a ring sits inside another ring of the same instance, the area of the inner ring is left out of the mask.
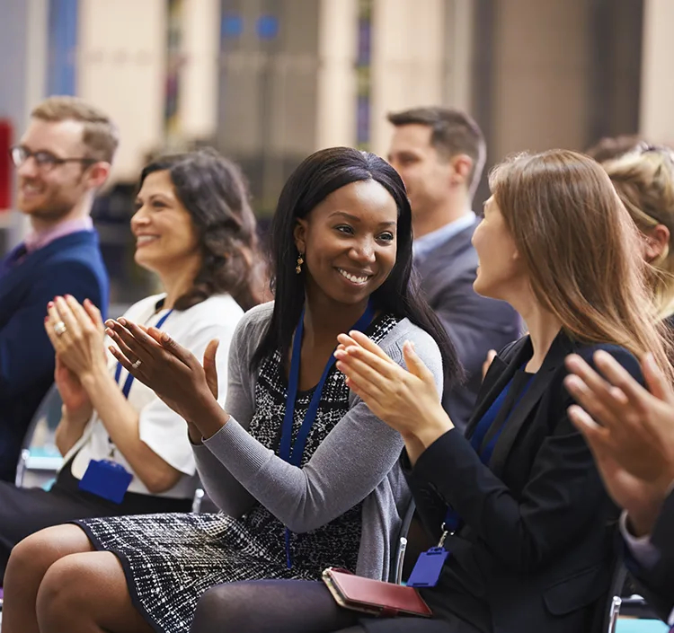
[[[180,132],[208,138],[217,127],[220,0],[183,0]]]

